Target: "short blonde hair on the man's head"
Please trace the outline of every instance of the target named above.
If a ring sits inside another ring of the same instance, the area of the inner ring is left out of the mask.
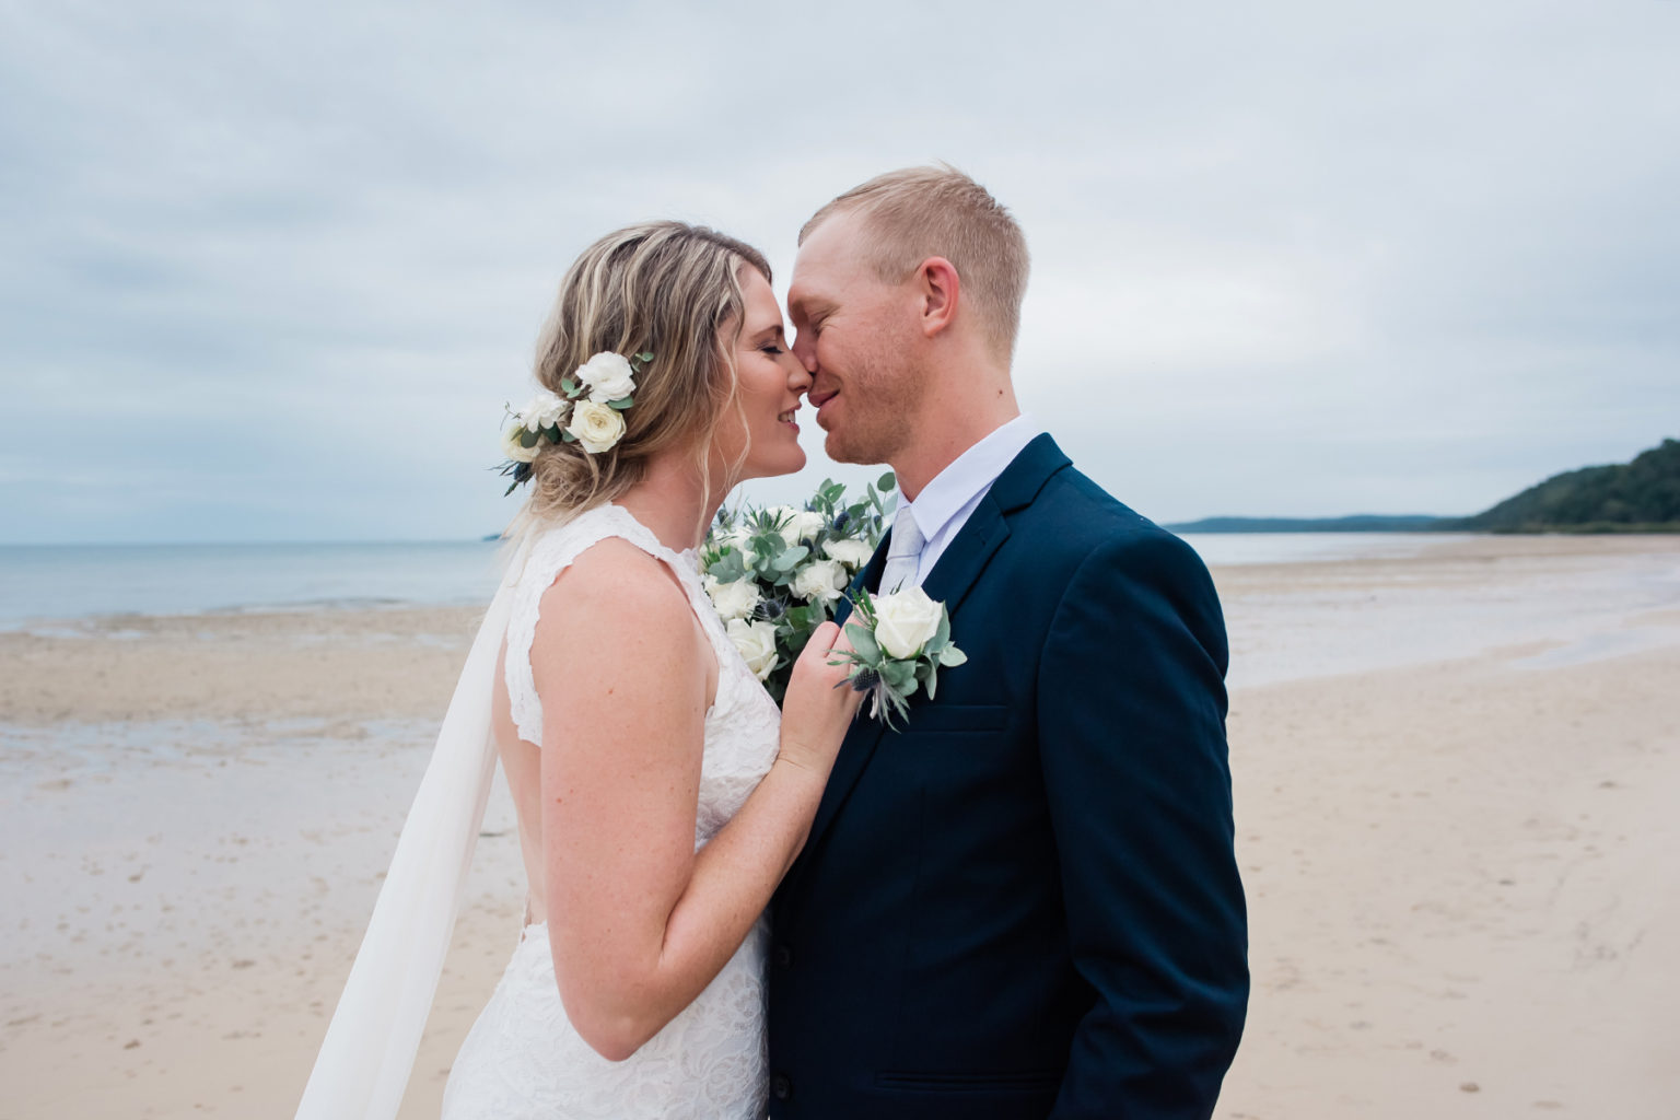
[[[991,349],[1008,361],[1026,294],[1026,237],[984,186],[949,165],[887,171],[811,215],[800,243],[837,213],[862,218],[862,252],[887,284],[900,284],[929,257],[956,267]]]

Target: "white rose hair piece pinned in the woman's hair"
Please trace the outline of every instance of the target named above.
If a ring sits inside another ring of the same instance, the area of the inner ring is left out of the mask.
[[[623,410],[635,405],[635,378],[643,373],[654,354],[648,351],[615,354],[601,351],[578,366],[570,378],[559,379],[564,396],[539,390],[519,411],[509,410],[512,421],[502,432],[504,475],[512,475],[506,494],[528,480],[531,463],[549,443],[576,443],[590,455],[601,455],[618,447],[625,435]],[[570,416],[570,423],[568,423]]]

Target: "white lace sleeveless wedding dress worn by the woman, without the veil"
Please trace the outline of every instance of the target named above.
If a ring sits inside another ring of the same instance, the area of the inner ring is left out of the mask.
[[[543,593],[585,549],[623,537],[677,574],[717,653],[717,699],[706,714],[699,850],[739,811],[769,771],[780,712],[701,584],[694,552],[674,552],[620,505],[580,514],[531,546],[507,621],[507,699],[521,739],[543,744],[531,680],[531,640]],[[548,925],[528,925],[496,994],[460,1048],[444,1091],[444,1120],[746,1120],[764,1113],[763,919],[722,972],[627,1061],[596,1055],[559,1002]]]

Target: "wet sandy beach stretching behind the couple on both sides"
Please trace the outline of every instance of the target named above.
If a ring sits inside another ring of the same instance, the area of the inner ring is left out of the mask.
[[[1680,1113],[1680,537],[1215,579],[1253,967],[1215,1115]],[[475,626],[0,633],[0,1120],[292,1115]],[[497,791],[405,1117],[521,900]]]

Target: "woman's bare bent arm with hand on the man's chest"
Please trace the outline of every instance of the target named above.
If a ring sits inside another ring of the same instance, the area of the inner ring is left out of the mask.
[[[531,667],[543,699],[549,942],[566,1014],[628,1058],[717,976],[805,843],[857,707],[825,665],[796,667],[776,764],[694,851],[712,652],[682,589],[603,542],[543,596]]]

